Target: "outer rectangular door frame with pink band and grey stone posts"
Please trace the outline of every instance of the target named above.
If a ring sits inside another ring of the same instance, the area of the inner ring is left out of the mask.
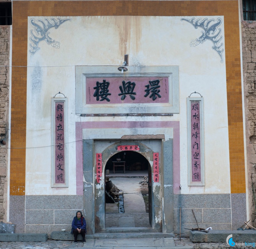
[[[82,128],[82,129],[81,129]],[[109,129],[111,128],[111,129]],[[76,127],[77,140],[82,138],[82,143],[77,146],[77,169],[80,168],[81,157],[83,161],[83,174],[82,178],[77,171],[77,193],[81,190],[80,182],[83,181],[83,196],[84,196],[84,213],[88,220],[87,231],[88,234],[95,233],[96,228],[104,228],[102,221],[99,220],[102,206],[97,207],[94,200],[96,189],[98,186],[95,184],[96,175],[94,171],[95,165],[95,142],[101,140],[121,141],[121,140],[161,140],[162,147],[162,180],[161,184],[157,186],[159,193],[161,193],[161,217],[160,221],[156,224],[162,223],[162,232],[171,233],[174,230],[174,209],[173,209],[173,163],[177,163],[175,177],[179,182],[179,122],[178,121],[116,121],[116,122],[77,122]],[[140,135],[138,135],[140,134]],[[151,135],[148,135],[151,134]],[[174,142],[175,140],[175,142]],[[175,144],[175,148],[174,148]],[[106,148],[108,146],[105,146]],[[104,148],[105,148],[104,147]],[[175,150],[175,153],[174,153]],[[80,154],[80,153],[81,154]],[[155,152],[155,151],[154,151]],[[160,151],[159,151],[160,152]],[[175,158],[174,158],[175,155]],[[101,187],[100,187],[101,188]],[[104,203],[102,204],[104,205]],[[105,210],[104,210],[105,211]],[[158,217],[152,217],[152,220]],[[152,224],[153,225],[153,224]],[[153,226],[152,226],[153,227]],[[157,228],[157,227],[156,227]]]

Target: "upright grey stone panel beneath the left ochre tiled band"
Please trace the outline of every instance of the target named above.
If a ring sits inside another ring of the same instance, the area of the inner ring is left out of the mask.
[[[15,224],[15,233],[25,232],[25,196],[10,195],[9,221]]]

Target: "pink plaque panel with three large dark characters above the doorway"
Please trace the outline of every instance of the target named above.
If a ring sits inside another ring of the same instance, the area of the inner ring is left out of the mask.
[[[169,103],[169,77],[86,78],[86,104]]]

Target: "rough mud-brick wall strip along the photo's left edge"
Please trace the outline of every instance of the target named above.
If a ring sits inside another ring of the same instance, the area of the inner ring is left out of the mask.
[[[8,135],[10,26],[0,26],[0,140]],[[6,221],[7,145],[0,147],[0,220]]]

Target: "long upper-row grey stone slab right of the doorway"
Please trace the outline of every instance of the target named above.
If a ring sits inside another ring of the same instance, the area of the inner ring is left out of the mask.
[[[174,208],[230,208],[230,194],[174,195]]]

